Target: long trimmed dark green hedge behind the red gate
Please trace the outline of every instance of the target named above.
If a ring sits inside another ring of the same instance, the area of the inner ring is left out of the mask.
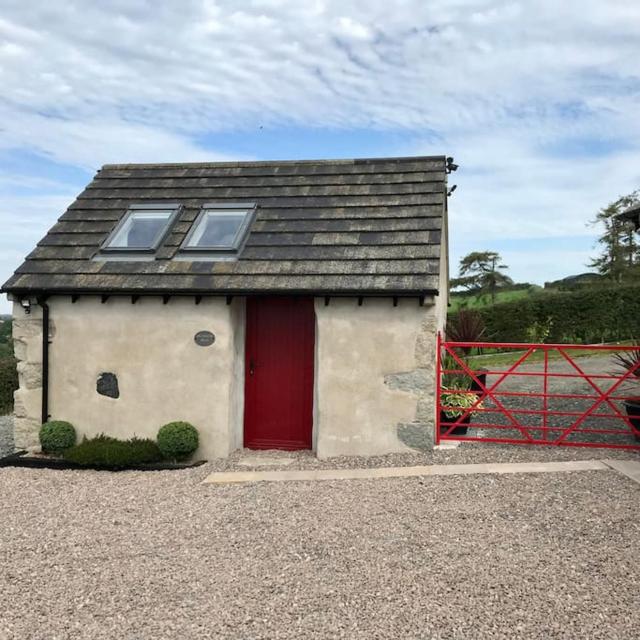
[[[640,336],[640,287],[539,293],[478,312],[493,342],[538,342],[531,338],[540,327],[548,343],[629,340]]]

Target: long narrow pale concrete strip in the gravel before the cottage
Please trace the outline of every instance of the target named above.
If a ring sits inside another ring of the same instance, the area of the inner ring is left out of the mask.
[[[612,461],[613,462],[613,461]],[[617,462],[617,461],[616,461]],[[308,469],[283,471],[224,471],[207,476],[203,482],[285,482],[291,480],[364,480],[369,478],[410,478],[415,476],[456,476],[475,473],[558,473],[563,471],[607,471],[615,468],[600,460],[566,462],[502,462],[488,464],[441,464],[419,467],[378,467],[372,469]],[[619,469],[616,469],[619,471]],[[624,473],[624,472],[623,472]]]

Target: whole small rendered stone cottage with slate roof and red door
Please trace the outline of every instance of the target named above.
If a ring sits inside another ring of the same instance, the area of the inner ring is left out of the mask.
[[[48,419],[239,447],[429,446],[451,158],[106,165],[27,256],[15,440]]]

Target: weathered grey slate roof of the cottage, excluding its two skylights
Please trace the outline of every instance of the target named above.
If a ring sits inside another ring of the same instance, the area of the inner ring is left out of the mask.
[[[438,289],[446,158],[105,165],[3,290],[410,295]],[[156,259],[95,260],[135,203],[183,205]],[[204,203],[258,204],[237,261],[172,260]]]

